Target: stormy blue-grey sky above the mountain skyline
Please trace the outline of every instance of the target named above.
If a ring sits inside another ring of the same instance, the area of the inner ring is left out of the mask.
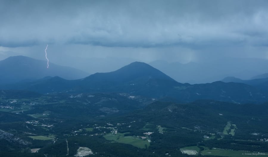
[[[0,60],[45,60],[46,44],[51,62],[88,72],[94,59],[268,59],[267,8],[267,0],[1,0]]]

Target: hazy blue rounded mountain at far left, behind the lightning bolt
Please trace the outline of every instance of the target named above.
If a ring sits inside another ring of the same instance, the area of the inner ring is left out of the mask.
[[[45,76],[60,76],[64,79],[81,79],[88,76],[81,70],[63,67],[43,60],[26,56],[12,56],[0,61],[0,84],[11,84],[21,81],[41,79]]]

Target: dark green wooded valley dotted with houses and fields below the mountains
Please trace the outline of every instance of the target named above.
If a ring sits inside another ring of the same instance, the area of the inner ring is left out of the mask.
[[[5,117],[1,118],[0,129],[25,141],[26,145],[15,150],[7,149],[14,153],[24,150],[25,156],[31,156],[30,149],[37,148],[40,150],[35,156],[74,156],[79,147],[88,147],[94,156],[103,156],[106,149],[96,149],[95,144],[105,145],[107,151],[129,147],[128,151],[139,150],[144,156],[184,156],[194,152],[237,156],[247,151],[265,153],[268,149],[265,103],[247,111],[249,104],[209,100],[184,104],[136,97],[116,93],[59,93],[21,99],[2,96],[2,106],[9,105],[11,109],[0,112],[0,117]],[[107,112],[103,107],[117,112]],[[242,108],[249,113],[247,116],[239,113]]]

